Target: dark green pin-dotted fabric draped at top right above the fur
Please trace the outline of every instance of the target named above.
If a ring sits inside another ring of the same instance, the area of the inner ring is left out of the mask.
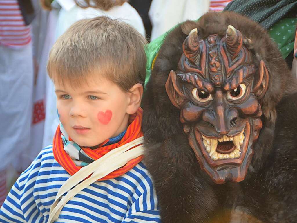
[[[297,11],[296,0],[233,0],[224,11],[234,11],[245,15],[265,29],[285,17],[295,17]]]

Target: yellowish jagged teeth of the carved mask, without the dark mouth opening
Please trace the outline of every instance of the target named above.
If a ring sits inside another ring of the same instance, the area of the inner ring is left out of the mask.
[[[224,135],[219,139],[210,139],[202,135],[202,138],[203,138],[203,144],[206,148],[206,152],[209,154],[212,160],[217,161],[219,159],[220,160],[236,159],[236,158],[239,158],[241,154],[240,146],[243,145],[243,142],[244,142],[244,131],[242,131],[237,136],[233,136],[233,137]],[[233,144],[235,145],[236,149],[232,153],[228,153],[228,154],[218,153],[216,151],[218,142],[228,142],[228,141],[233,141]]]

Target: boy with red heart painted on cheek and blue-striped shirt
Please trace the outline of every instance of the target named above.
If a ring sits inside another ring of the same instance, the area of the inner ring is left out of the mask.
[[[47,69],[60,125],[53,146],[41,151],[11,189],[0,222],[160,222],[143,156],[78,191],[48,220],[71,175],[143,136],[144,44],[131,26],[108,17],[78,21],[57,40]]]

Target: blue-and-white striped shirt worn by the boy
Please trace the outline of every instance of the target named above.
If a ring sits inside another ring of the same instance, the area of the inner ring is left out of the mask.
[[[46,147],[15,182],[0,209],[0,222],[46,223],[50,206],[69,177],[54,159],[52,146]],[[55,222],[160,222],[145,165],[140,162],[120,177],[92,183],[65,204]]]

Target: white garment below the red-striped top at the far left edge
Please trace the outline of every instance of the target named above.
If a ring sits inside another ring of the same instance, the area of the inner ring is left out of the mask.
[[[29,148],[32,123],[32,44],[0,45],[0,170]],[[32,158],[33,159],[33,158]]]

